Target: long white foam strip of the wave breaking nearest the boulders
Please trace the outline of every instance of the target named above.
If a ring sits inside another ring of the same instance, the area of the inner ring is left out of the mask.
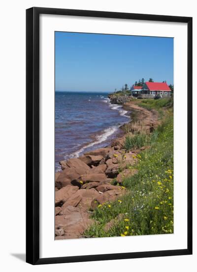
[[[70,154],[69,158],[77,158],[85,149],[87,149],[88,147],[94,146],[95,144],[105,141],[109,136],[111,136],[117,130],[118,130],[118,127],[111,127],[111,128],[105,129],[103,134],[96,136],[96,141],[91,142],[91,143],[83,146],[79,150],[75,151],[74,153]],[[68,157],[68,156],[65,156],[65,159],[67,159],[66,157]]]

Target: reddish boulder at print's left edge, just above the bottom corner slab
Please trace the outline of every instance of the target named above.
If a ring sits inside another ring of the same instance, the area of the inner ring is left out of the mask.
[[[55,206],[62,206],[66,200],[76,191],[78,191],[78,186],[68,185],[66,187],[61,188],[60,190],[55,192]]]

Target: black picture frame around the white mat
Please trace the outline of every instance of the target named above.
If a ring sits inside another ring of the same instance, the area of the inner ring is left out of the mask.
[[[71,257],[39,257],[39,15],[57,14],[187,23],[188,245],[185,249]],[[33,265],[192,254],[192,17],[32,7],[26,10],[26,262]]]

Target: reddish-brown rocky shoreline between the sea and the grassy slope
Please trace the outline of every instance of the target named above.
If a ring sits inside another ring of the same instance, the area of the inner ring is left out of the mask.
[[[135,116],[138,122],[143,121],[143,129],[149,134],[151,125],[156,127],[159,123],[158,114],[137,103],[131,100],[123,104],[123,108],[132,111],[131,117]],[[134,166],[138,154],[149,148],[142,146],[127,152],[124,149],[127,135],[124,126],[132,128],[133,122],[136,121],[131,118],[130,122],[122,125],[124,135],[114,138],[110,145],[60,162],[62,171],[55,174],[56,240],[83,238],[84,231],[95,223],[90,217],[95,208],[127,195],[123,179],[137,173],[135,168],[127,169],[127,165]],[[142,126],[137,130],[142,131]]]

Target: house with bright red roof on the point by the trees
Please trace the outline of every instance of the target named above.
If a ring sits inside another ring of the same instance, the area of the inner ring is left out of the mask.
[[[133,93],[133,96],[137,96],[138,98],[154,98],[156,95],[160,95],[161,97],[170,97],[171,93],[166,82],[145,82],[140,88],[141,90],[137,88],[137,94]]]

